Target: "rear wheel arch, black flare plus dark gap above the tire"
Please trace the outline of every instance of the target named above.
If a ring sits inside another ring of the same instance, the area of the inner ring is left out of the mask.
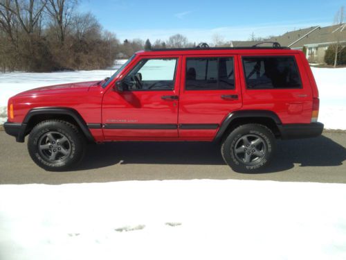
[[[280,126],[282,121],[279,116],[269,110],[239,110],[230,112],[221,123],[215,141],[221,141],[233,129],[245,123],[260,123],[268,127],[275,137],[281,137]]]

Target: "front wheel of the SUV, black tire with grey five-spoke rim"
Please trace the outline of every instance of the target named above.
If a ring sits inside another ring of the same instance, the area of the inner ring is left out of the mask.
[[[46,171],[65,171],[84,157],[85,140],[75,125],[46,120],[31,130],[28,151],[33,161]]]

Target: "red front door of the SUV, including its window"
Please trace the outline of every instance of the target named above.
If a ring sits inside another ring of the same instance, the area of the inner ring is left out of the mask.
[[[123,91],[108,89],[102,102],[105,139],[178,137],[179,56],[139,56],[121,75]]]

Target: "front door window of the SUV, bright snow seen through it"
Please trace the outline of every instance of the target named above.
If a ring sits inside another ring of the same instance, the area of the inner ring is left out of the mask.
[[[174,89],[176,58],[144,59],[124,78],[128,90]]]

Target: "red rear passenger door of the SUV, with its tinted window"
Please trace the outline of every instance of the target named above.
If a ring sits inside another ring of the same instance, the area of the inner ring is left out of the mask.
[[[210,140],[242,107],[237,55],[185,55],[182,71],[179,137]]]

